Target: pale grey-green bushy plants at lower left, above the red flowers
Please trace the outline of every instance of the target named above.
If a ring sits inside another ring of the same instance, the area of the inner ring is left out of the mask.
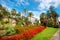
[[[16,33],[15,29],[11,25],[8,25],[8,24],[4,25],[3,30],[4,31],[0,32],[1,36],[10,36],[10,35],[14,35]]]

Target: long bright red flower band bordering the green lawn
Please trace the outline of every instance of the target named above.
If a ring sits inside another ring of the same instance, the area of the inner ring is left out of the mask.
[[[30,40],[34,35],[44,30],[44,27],[36,27],[32,30],[23,32],[22,34],[16,34],[9,37],[1,38],[0,40]]]

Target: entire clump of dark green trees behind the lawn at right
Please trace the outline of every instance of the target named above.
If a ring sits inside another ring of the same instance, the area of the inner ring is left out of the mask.
[[[48,26],[54,26],[54,25],[56,26],[56,25],[58,25],[58,24],[56,24],[58,21],[57,20],[58,17],[59,17],[59,15],[54,10],[54,7],[51,6],[49,11],[47,11],[46,14],[42,13],[40,15],[40,21],[41,21],[41,24],[43,24],[43,23],[45,23],[44,21],[46,20],[47,21],[46,23],[48,24]]]

